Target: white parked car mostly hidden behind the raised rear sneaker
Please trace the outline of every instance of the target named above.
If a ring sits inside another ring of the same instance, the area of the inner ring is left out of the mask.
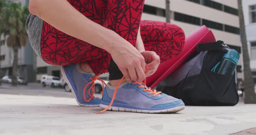
[[[108,83],[107,80],[103,80],[106,84]],[[69,85],[66,83],[66,81],[64,80],[64,78],[62,77],[60,80],[60,84],[62,87],[64,87],[64,90],[66,92],[71,92],[71,89],[69,88]],[[102,92],[102,82],[99,80],[95,80],[94,81],[95,84],[95,93],[101,93]]]

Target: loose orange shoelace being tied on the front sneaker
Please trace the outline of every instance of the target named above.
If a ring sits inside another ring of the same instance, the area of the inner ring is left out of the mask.
[[[114,102],[114,100],[115,100],[115,95],[116,95],[116,92],[117,92],[117,90],[118,90],[118,87],[120,86],[120,84],[121,84],[121,82],[122,82],[122,80],[123,80],[124,78],[125,78],[125,77],[122,77],[121,80],[119,81],[119,83],[117,84],[117,86],[115,87],[115,91],[114,91],[114,93],[113,93],[112,100],[111,100],[110,104],[108,105],[108,107],[105,108],[104,110],[102,110],[102,111],[96,113],[96,114],[103,113],[103,112],[105,112],[106,110],[108,110],[109,107],[112,106],[112,104],[113,104],[113,102]],[[161,91],[158,92],[157,90],[151,90],[150,87],[147,88],[147,86],[146,86],[146,79],[144,80],[144,86],[143,86],[142,82],[140,82],[140,83],[134,82],[134,83],[131,83],[131,84],[132,84],[132,85],[134,85],[134,84],[140,84],[141,86],[138,86],[138,88],[144,88],[145,90],[143,90],[143,91],[144,91],[144,92],[145,92],[145,91],[149,91],[148,95],[153,94],[153,97],[155,97],[155,96],[157,96],[157,95],[159,95],[159,94],[162,93]],[[103,92],[102,92],[102,93],[103,93]]]

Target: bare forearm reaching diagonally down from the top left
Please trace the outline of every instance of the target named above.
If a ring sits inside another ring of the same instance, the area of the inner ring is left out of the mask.
[[[39,16],[56,29],[108,52],[115,48],[117,40],[123,42],[122,45],[128,45],[117,33],[94,23],[67,0],[30,0],[29,9],[30,13]]]

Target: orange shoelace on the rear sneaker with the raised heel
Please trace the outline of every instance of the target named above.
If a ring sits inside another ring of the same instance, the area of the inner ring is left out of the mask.
[[[103,90],[104,90],[104,88],[105,88],[105,86],[106,86],[107,84],[106,84],[103,80],[101,80],[100,78],[98,78],[99,75],[100,75],[100,74],[98,74],[98,75],[96,75],[95,77],[92,77],[92,78],[89,77],[89,79],[90,79],[91,81],[90,81],[88,84],[85,85],[85,88],[84,88],[84,90],[83,90],[83,96],[84,96],[84,99],[85,99],[86,102],[89,102],[89,101],[93,100],[93,96],[94,96],[94,92],[95,92],[95,85],[94,85],[94,81],[95,81],[95,80],[99,80],[99,81],[102,82],[102,96],[103,96]],[[87,100],[86,97],[85,97],[85,90],[86,90],[86,88],[87,88],[90,84],[92,84],[92,86],[89,87],[89,90],[88,90],[88,94],[89,94],[90,98],[89,98],[89,100]],[[105,85],[105,86],[104,86],[104,85]],[[92,92],[90,93],[91,90],[92,90]]]

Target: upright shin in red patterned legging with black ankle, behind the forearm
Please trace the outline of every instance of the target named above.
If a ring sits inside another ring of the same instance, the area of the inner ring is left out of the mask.
[[[143,6],[144,0],[108,0],[108,29],[112,29],[135,46]],[[110,83],[113,85],[123,77],[112,59],[108,71]],[[116,80],[115,83],[112,80]]]

